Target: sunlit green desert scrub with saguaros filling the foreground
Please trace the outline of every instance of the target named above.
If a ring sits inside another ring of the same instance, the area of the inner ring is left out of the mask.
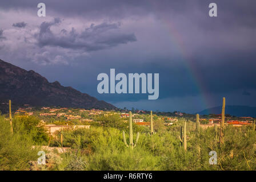
[[[150,114],[147,127],[135,125],[131,112],[127,121],[117,114],[102,115],[91,123],[90,129],[64,129],[50,137],[38,117],[1,115],[0,169],[256,169],[255,122],[242,127],[214,125],[203,129],[199,117],[195,121],[181,117],[174,125],[166,126]],[[47,151],[41,146],[63,147],[67,151]],[[40,150],[46,152],[46,165],[37,164]],[[211,151],[217,154],[216,164],[209,163]]]

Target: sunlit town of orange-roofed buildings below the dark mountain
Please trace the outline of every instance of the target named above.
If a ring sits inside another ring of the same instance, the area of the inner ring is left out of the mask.
[[[6,104],[7,103],[2,103]],[[132,109],[133,122],[136,125],[150,127],[150,111]],[[129,119],[129,110],[126,108],[119,110],[99,110],[99,109],[74,109],[68,107],[33,107],[30,105],[23,105],[14,111],[14,115],[34,115],[39,117],[41,123],[49,129],[50,133],[61,130],[65,127],[72,127],[79,125],[80,127],[90,127],[91,124],[98,123],[100,125],[99,117],[107,115],[119,115],[123,122]],[[153,112],[154,120],[162,121],[163,125],[171,126],[178,122],[179,118],[186,118],[195,122],[194,114],[181,113],[179,111],[171,112]],[[244,125],[251,125],[254,122],[253,117],[235,117],[229,114],[225,115],[225,122],[227,125],[241,127]],[[221,114],[201,115],[199,119],[202,128],[213,127],[214,124],[220,125]]]

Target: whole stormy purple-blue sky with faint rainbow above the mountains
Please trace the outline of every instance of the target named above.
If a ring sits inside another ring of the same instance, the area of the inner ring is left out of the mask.
[[[37,5],[46,5],[46,17]],[[210,17],[209,4],[218,6]],[[256,1],[0,1],[0,59],[117,107],[256,106]],[[159,73],[159,98],[98,94],[97,76]]]

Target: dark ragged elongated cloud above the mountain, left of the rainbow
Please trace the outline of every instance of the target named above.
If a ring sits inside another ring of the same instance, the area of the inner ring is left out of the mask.
[[[83,49],[89,52],[137,40],[134,34],[126,34],[119,31],[121,23],[91,24],[89,28],[86,28],[81,33],[72,28],[71,31],[62,29],[58,34],[54,34],[50,27],[59,23],[61,23],[61,20],[55,18],[53,22],[43,22],[41,24],[40,32],[36,35],[39,46],[59,46],[62,48]]]

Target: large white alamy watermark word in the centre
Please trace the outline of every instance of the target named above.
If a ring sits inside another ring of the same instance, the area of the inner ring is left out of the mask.
[[[109,92],[109,76],[106,73],[100,73],[97,80],[102,80],[97,86],[98,93],[139,93],[141,85],[141,93],[149,93],[149,100],[157,100],[159,96],[159,73],[154,73],[153,88],[152,73],[128,73],[128,90],[127,76],[124,73],[115,75],[115,69],[110,69],[110,92]],[[115,81],[117,84],[115,84]],[[140,84],[141,80],[141,84]],[[135,92],[134,92],[135,91]]]

